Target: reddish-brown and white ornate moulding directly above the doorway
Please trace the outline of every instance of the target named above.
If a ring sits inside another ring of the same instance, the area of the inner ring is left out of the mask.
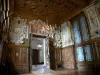
[[[38,35],[49,36],[53,38],[54,34],[54,27],[48,25],[47,23],[43,22],[42,20],[32,20],[29,22],[29,27],[32,33]]]

